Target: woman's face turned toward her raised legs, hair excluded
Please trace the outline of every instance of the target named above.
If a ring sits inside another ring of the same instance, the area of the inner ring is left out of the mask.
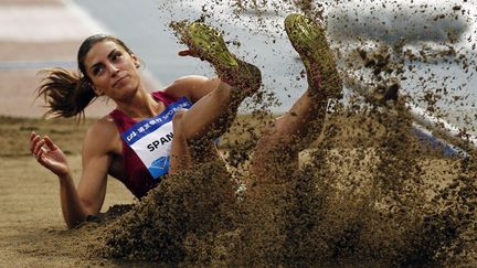
[[[114,41],[94,44],[84,61],[96,94],[114,100],[134,96],[140,84],[138,64],[134,54]]]

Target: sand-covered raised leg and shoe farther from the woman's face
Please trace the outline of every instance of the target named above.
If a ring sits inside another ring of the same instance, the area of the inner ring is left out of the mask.
[[[324,30],[298,14],[287,17],[285,29],[304,62],[308,89],[288,112],[266,127],[258,140],[251,173],[262,183],[273,181],[277,174],[286,178],[296,170],[299,151],[321,131],[328,99],[339,97],[342,87]]]

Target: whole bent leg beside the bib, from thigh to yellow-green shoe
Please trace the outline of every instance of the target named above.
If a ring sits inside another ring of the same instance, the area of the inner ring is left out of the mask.
[[[215,88],[210,94],[174,116],[171,173],[220,159],[213,140],[226,131],[242,100],[255,93],[262,82],[259,69],[232,55],[214,29],[194,22],[181,34],[190,51],[212,64],[219,78],[211,83]]]

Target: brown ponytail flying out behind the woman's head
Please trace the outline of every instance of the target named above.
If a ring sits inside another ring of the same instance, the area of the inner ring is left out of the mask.
[[[44,117],[84,119],[84,109],[97,97],[87,78],[64,68],[43,69],[40,74],[44,77],[38,97],[43,97],[49,108]]]

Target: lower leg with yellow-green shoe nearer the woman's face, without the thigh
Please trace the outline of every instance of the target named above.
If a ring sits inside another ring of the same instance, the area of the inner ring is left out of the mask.
[[[216,88],[202,97],[182,117],[187,140],[220,137],[230,126],[242,100],[261,86],[259,69],[231,54],[222,35],[199,22],[182,31],[182,40],[198,56],[215,68],[220,81]]]

